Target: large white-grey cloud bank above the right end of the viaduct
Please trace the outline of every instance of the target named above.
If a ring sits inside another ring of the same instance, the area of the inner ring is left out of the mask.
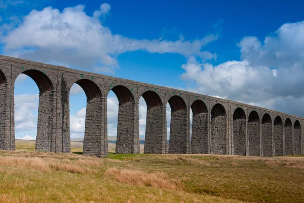
[[[244,37],[237,44],[241,61],[213,66],[190,57],[181,79],[197,91],[304,116],[304,21],[283,24],[260,42]]]

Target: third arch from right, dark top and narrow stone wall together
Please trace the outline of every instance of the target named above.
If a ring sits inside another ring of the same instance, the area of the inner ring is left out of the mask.
[[[274,120],[275,156],[283,156],[283,121],[280,116]]]

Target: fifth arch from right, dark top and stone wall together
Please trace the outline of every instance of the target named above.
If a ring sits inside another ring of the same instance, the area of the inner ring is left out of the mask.
[[[250,156],[260,156],[260,118],[256,111],[248,117],[248,152]]]

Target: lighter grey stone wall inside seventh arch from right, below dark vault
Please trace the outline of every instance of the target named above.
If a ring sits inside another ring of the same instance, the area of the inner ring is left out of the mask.
[[[227,117],[217,116],[211,120],[211,154],[227,153]]]

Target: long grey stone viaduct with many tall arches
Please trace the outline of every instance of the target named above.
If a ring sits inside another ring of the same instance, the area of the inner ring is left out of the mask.
[[[84,155],[108,154],[107,95],[119,100],[116,153],[139,153],[138,103],[147,105],[144,153],[280,156],[303,153],[303,118],[178,89],[0,55],[0,149],[15,150],[14,82],[39,87],[36,150],[70,152],[69,91],[87,96]],[[171,107],[167,145],[166,104]],[[192,133],[190,111],[193,112]],[[191,136],[192,134],[192,136]]]

